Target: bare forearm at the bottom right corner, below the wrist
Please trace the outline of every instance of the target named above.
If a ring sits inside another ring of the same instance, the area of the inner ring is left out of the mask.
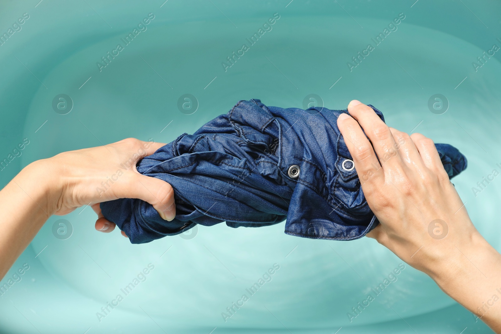
[[[480,234],[449,251],[450,256],[427,273],[445,293],[501,333],[501,255]]]

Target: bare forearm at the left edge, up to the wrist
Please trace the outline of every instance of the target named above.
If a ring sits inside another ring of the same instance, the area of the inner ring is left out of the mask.
[[[54,182],[44,163],[37,161],[23,169],[0,191],[0,279],[54,213]]]

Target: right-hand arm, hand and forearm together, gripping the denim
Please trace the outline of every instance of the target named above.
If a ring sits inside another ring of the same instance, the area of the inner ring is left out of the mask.
[[[351,101],[348,112],[338,127],[380,221],[367,236],[501,332],[501,301],[492,302],[501,298],[501,255],[473,226],[433,141],[389,128],[359,101]]]

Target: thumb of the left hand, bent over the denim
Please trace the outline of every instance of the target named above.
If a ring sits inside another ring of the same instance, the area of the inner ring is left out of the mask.
[[[153,205],[162,219],[171,221],[176,215],[174,190],[167,182],[126,171],[122,180],[115,182],[113,193],[117,198],[139,198]]]

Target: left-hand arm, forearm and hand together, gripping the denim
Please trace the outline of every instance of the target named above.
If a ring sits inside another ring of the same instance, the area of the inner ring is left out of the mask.
[[[129,138],[64,152],[25,167],[0,191],[0,279],[53,214],[68,214],[91,204],[98,214],[96,229],[111,232],[115,224],[103,217],[99,203],[140,198],[152,204],[162,218],[172,220],[172,187],[135,168],[138,160],[163,145]]]

